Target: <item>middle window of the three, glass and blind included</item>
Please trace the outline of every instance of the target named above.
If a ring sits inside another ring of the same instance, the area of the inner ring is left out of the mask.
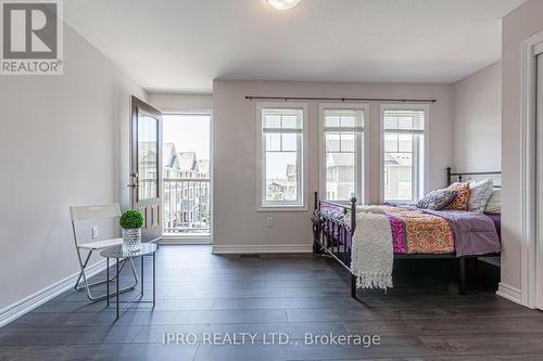
[[[364,114],[366,106],[320,106],[321,194],[329,201],[364,202]]]

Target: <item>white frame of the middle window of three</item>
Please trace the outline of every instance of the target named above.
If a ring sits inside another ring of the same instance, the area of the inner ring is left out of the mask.
[[[369,198],[369,172],[367,171],[369,156],[369,104],[358,103],[320,103],[319,104],[319,194],[327,197],[326,193],[326,134],[325,134],[325,109],[356,109],[363,111],[364,124],[362,134],[356,134],[356,169],[355,190],[356,201],[364,204]],[[363,142],[361,142],[363,140]],[[363,144],[364,143],[364,144]],[[334,201],[337,203],[349,204],[349,199]]]

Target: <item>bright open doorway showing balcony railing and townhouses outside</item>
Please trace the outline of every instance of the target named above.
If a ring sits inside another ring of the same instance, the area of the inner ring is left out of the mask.
[[[163,115],[164,240],[212,240],[211,113]]]

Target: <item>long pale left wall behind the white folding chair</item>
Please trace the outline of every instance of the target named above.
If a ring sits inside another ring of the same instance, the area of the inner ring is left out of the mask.
[[[64,37],[63,76],[0,78],[0,310],[78,270],[70,205],[127,205],[130,95],[147,94]]]

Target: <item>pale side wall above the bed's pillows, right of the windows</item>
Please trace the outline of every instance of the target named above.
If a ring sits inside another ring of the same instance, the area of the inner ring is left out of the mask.
[[[456,82],[454,99],[454,170],[501,170],[501,62]]]

